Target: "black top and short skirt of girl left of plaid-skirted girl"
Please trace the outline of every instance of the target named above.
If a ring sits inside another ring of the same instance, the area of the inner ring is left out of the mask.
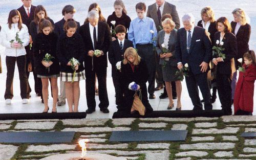
[[[55,33],[45,35],[44,33],[38,33],[35,37],[33,55],[35,57],[35,70],[38,75],[50,76],[59,74],[59,61],[56,56],[56,44],[58,37]],[[49,67],[49,70],[42,65],[41,61],[46,54],[52,55],[53,64]]]

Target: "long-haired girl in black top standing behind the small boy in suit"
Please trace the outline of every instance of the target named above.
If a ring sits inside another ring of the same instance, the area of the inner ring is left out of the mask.
[[[116,0],[114,2],[115,11],[108,17],[106,20],[110,29],[115,30],[117,25],[123,25],[128,33],[131,18],[127,16],[127,12],[122,0]],[[116,40],[116,34],[112,34],[112,40]],[[125,35],[125,38],[128,39],[128,34]]]

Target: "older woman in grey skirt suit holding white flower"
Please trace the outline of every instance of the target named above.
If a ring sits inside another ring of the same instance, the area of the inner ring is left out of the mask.
[[[166,85],[167,95],[169,97],[169,104],[167,109],[174,107],[174,100],[172,94],[171,82],[175,81],[177,92],[177,107],[176,110],[181,110],[181,81],[176,75],[178,71],[177,62],[175,58],[175,44],[177,40],[177,30],[175,29],[175,22],[172,19],[165,19],[162,22],[163,30],[158,33],[157,39],[157,54],[160,55],[160,64],[163,70],[163,80]]]

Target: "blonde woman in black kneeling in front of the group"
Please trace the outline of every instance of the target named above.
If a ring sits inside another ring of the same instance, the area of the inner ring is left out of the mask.
[[[150,103],[147,99],[146,82],[148,79],[148,71],[145,61],[141,59],[136,50],[132,47],[127,48],[124,52],[124,60],[121,63],[121,78],[124,88],[124,108],[127,112],[132,112],[134,108],[134,96],[135,91],[129,89],[129,84],[135,82],[138,84],[136,93],[139,95],[139,89],[141,90],[141,102],[145,106],[145,112],[150,113],[153,111]],[[133,109],[132,109],[133,108]]]

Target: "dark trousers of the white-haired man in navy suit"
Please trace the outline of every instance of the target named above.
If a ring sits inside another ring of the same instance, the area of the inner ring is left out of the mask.
[[[188,90],[188,95],[194,105],[194,109],[202,109],[203,105],[199,98],[199,90],[202,93],[204,99],[204,109],[211,110],[212,105],[210,103],[210,89],[207,81],[207,72],[201,73],[198,75],[194,75],[192,72],[188,72],[188,76],[186,77],[186,85]]]

